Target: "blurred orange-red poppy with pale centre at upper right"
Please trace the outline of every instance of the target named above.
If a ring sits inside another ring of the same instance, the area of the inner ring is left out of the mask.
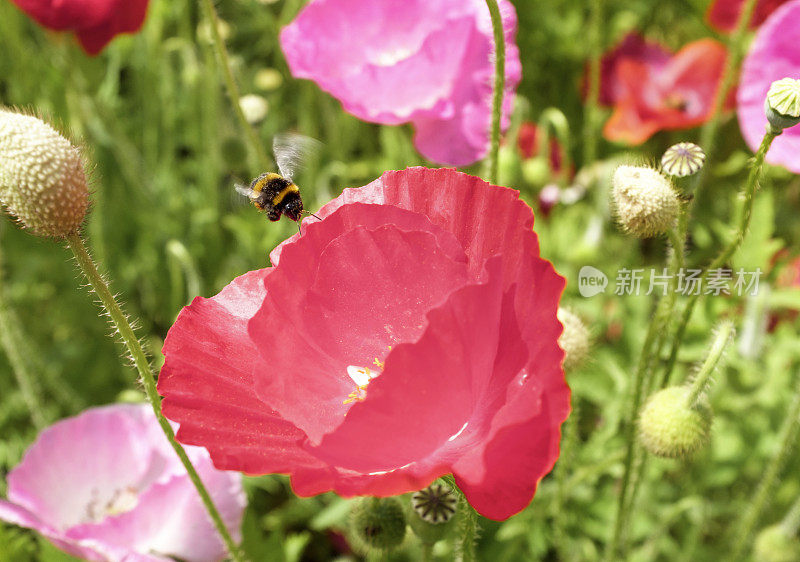
[[[663,67],[623,59],[616,67],[620,92],[603,135],[640,144],[657,131],[689,129],[710,117],[725,47],[713,39],[685,45]]]

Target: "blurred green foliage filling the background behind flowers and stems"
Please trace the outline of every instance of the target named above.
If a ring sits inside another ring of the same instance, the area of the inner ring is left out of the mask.
[[[268,142],[275,133],[292,130],[323,142],[297,178],[306,207],[314,210],[347,186],[424,161],[408,127],[363,123],[313,83],[290,76],[277,35],[301,4],[242,0],[221,2],[218,9],[227,22],[227,46],[242,93],[257,93],[269,104],[258,126],[261,138]],[[524,78],[509,143],[521,121],[537,121],[546,108],[557,107],[572,131],[571,157],[580,169],[586,141],[578,133],[584,112],[580,92],[588,53],[576,38],[585,34],[590,3],[514,4]],[[703,19],[706,3],[698,0],[603,4],[604,49],[631,29],[674,50],[713,35]],[[236,275],[267,266],[269,251],[295,228],[289,221],[269,223],[232,189],[235,181],[246,182],[271,163],[248,161],[199,14],[196,2],[153,0],[141,33],[120,37],[101,56],[89,58],[68,36],[45,32],[10,2],[0,3],[0,104],[60,123],[94,163],[86,234],[125,307],[141,320],[139,333],[156,365],[183,305],[198,294],[215,294]],[[599,559],[622,471],[620,426],[631,373],[652,312],[648,297],[614,296],[613,279],[622,267],[660,268],[665,251],[661,241],[619,234],[608,209],[608,178],[615,159],[655,161],[673,142],[696,139],[697,131],[660,133],[635,152],[601,143],[603,161],[591,173],[584,170],[591,177],[585,197],[549,214],[538,210],[536,197],[545,182],[526,182],[519,154],[504,149],[503,183],[520,189],[534,207],[542,253],[568,280],[564,303],[587,321],[595,341],[588,364],[568,378],[575,411],[565,431],[574,440],[527,510],[506,522],[481,522],[480,559]],[[717,160],[709,163],[708,194],[695,209],[693,263],[716,252],[737,208],[735,193],[750,153],[732,115],[723,119],[718,146]],[[734,265],[762,268],[762,284],[774,286],[787,261],[776,261],[775,253],[798,253],[800,180],[770,168],[758,197],[750,238]],[[133,370],[107,337],[109,328],[98,319],[92,297],[78,287],[64,248],[0,218],[0,257],[2,300],[20,320],[18,340],[40,381],[49,421],[136,388]],[[583,265],[609,275],[612,285],[605,294],[579,296],[576,281]],[[798,385],[798,322],[786,310],[800,308],[800,297],[796,288],[775,288],[760,312],[748,316],[747,306],[744,298],[712,298],[695,312],[675,381],[702,359],[720,316],[736,319],[740,334],[749,322],[762,340],[743,355],[740,337],[737,349],[727,354],[711,394],[716,412],[711,446],[692,461],[649,460],[632,519],[630,560],[719,560],[732,521],[747,507],[775,452],[778,428]],[[782,321],[765,333],[769,315]],[[3,354],[0,388],[3,475],[36,432]],[[798,462],[800,455],[793,454],[789,467]],[[764,525],[780,520],[800,494],[796,470],[784,474],[762,516]],[[298,499],[277,476],[248,478],[247,491],[244,548],[253,560],[352,556],[344,554],[346,501],[333,495]],[[2,478],[0,492],[5,492]],[[440,544],[434,554],[447,559],[452,553]],[[413,544],[396,555],[418,556]],[[0,560],[34,559],[67,558],[26,531],[0,525]]]

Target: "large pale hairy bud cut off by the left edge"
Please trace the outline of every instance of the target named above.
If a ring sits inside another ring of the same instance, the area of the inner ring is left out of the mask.
[[[89,205],[80,151],[41,119],[0,110],[0,202],[34,234],[75,233]]]

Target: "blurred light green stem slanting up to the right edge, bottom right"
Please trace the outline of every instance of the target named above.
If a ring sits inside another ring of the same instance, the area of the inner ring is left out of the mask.
[[[771,499],[770,494],[772,493],[775,481],[778,479],[781,468],[783,468],[787,457],[796,445],[797,433],[800,428],[800,423],[798,422],[800,422],[800,384],[798,384],[792,403],[789,406],[789,412],[783,421],[783,426],[781,427],[778,437],[778,450],[775,456],[769,461],[769,465],[764,471],[764,476],[758,484],[753,499],[748,503],[747,510],[745,510],[738,524],[733,527],[734,533],[732,538],[735,539],[735,543],[733,554],[730,557],[732,561],[739,560],[744,555],[756,523],[758,523],[758,517],[764,509],[764,505]]]

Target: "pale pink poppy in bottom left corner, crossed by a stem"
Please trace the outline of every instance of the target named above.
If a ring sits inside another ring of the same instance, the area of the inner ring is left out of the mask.
[[[186,450],[234,536],[241,477]],[[0,519],[86,560],[221,560],[225,548],[150,406],[92,408],[44,430],[8,474]]]

